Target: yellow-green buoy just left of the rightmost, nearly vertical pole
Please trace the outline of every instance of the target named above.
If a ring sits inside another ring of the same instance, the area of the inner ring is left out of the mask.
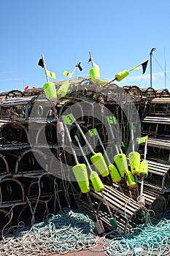
[[[128,154],[128,159],[131,166],[131,173],[133,175],[139,175],[140,157],[141,156],[138,152],[131,152]]]

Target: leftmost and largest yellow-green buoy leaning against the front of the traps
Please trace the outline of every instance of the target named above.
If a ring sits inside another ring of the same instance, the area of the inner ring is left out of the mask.
[[[90,191],[88,172],[85,164],[78,164],[72,167],[74,176],[80,186],[82,193]]]

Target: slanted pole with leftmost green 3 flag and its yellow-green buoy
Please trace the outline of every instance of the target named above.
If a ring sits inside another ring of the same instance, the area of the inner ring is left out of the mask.
[[[106,162],[104,160],[104,157],[101,154],[101,152],[96,153],[95,151],[93,151],[92,146],[88,142],[87,138],[85,137],[85,134],[82,132],[82,129],[81,129],[80,125],[77,123],[77,120],[74,118],[72,113],[67,115],[66,118],[68,118],[69,121],[74,123],[77,126],[77,129],[80,131],[80,133],[82,135],[82,138],[85,140],[85,142],[88,145],[88,148],[90,148],[90,151],[93,154],[93,156],[90,157],[90,160],[93,163],[93,165],[96,167],[98,172],[101,173],[101,176],[103,176],[103,177],[108,176],[109,175],[109,170],[108,170],[107,164],[106,164]]]

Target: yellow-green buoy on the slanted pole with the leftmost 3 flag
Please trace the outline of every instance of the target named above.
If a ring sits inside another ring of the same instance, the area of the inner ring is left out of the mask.
[[[101,176],[106,177],[109,175],[107,164],[104,161],[104,157],[101,152],[94,154],[92,157],[90,157],[90,160],[93,162],[93,165],[96,167],[98,172],[101,173]]]

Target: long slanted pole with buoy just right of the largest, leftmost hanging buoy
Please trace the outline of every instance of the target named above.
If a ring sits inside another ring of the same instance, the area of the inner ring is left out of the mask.
[[[102,183],[100,177],[98,176],[98,173],[96,173],[96,171],[93,171],[92,168],[90,167],[90,163],[88,162],[88,158],[86,157],[84,151],[82,150],[82,146],[80,145],[79,139],[77,138],[76,135],[74,137],[77,140],[77,143],[79,145],[80,151],[82,152],[82,155],[85,158],[85,162],[87,163],[88,168],[90,170],[90,181],[93,184],[94,191],[98,192],[98,193],[101,193],[101,196],[103,197],[104,203],[106,204],[107,209],[109,211],[109,215],[111,217],[109,219],[109,222],[112,225],[112,227],[115,228],[115,227],[117,227],[116,219],[115,219],[115,217],[113,217],[112,211],[109,208],[109,204],[107,203],[107,200],[104,197],[104,194],[102,193],[102,191],[104,190],[104,184]]]

